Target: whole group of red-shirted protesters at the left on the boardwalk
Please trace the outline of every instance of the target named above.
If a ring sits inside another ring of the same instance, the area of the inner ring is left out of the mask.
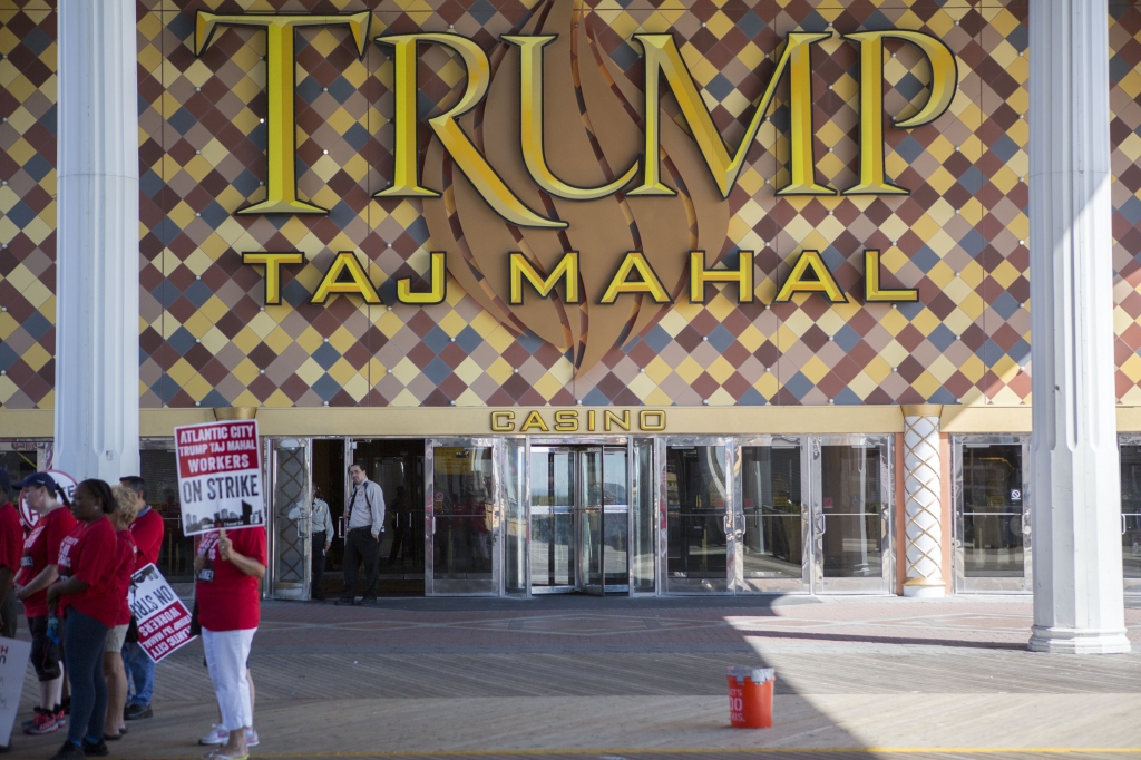
[[[16,492],[35,512],[25,528]],[[154,662],[138,641],[129,596],[131,576],[159,558],[162,516],[147,506],[145,484],[124,477],[79,483],[68,499],[49,472],[11,483],[0,469],[0,634],[16,636],[17,600],[32,636],[39,704],[23,730],[65,730],[51,760],[110,754],[127,722],[153,714]],[[250,646],[260,617],[258,585],[266,572],[265,529],[199,536],[195,613],[219,723],[200,739],[212,760],[242,760],[257,744]],[[70,688],[70,696],[68,695]],[[7,751],[0,742],[0,752]]]

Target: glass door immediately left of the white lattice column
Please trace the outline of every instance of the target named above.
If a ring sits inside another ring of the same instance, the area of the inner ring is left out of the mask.
[[[891,589],[891,443],[887,437],[812,439],[812,587],[817,592]]]

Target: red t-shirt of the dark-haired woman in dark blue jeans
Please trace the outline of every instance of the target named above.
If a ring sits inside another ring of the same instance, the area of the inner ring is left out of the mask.
[[[122,607],[115,598],[115,569],[119,539],[111,520],[100,517],[94,523],[80,523],[59,544],[59,580],[78,577],[88,583],[82,593],[60,597],[60,608],[73,607],[107,628],[115,625]]]

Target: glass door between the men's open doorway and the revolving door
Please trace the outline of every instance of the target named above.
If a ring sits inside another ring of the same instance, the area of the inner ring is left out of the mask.
[[[426,445],[424,591],[428,596],[499,596],[502,541],[499,450],[487,438],[429,439]]]

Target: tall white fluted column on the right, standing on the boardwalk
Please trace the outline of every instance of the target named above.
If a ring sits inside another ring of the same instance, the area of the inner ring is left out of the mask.
[[[1128,652],[1114,395],[1106,0],[1030,7],[1035,652]]]

